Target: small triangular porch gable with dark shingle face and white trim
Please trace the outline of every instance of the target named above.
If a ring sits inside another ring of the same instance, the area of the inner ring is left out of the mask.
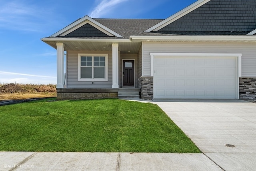
[[[80,35],[79,35],[80,34]],[[72,24],[68,25],[67,27],[63,28],[62,30],[56,32],[50,37],[58,37],[58,36],[100,36],[103,37],[110,36],[110,37],[118,37],[122,38],[120,34],[110,30],[106,26],[100,24],[99,22],[93,20],[89,16],[84,16],[83,18],[73,22]]]

